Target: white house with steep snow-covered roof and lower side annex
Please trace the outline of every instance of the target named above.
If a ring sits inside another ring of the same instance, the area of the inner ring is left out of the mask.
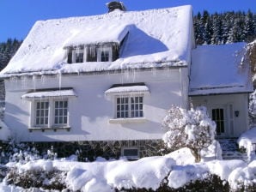
[[[220,132],[237,136],[247,129],[252,86],[241,82],[230,94],[224,87],[216,95],[216,85],[204,78],[204,69],[211,70],[204,64],[221,63],[203,62],[204,48],[209,53],[210,47],[195,48],[189,5],[37,21],[0,73],[4,123],[17,141],[118,141],[124,155],[142,157],[149,155],[145,146],[162,140],[162,118],[170,106],[188,108],[191,96],[194,105],[224,112],[217,122],[226,121],[230,111],[229,131],[225,122]],[[225,60],[229,69],[236,70],[241,57],[227,57],[233,58]],[[248,68],[240,75],[248,77]],[[236,83],[232,78],[225,83]],[[210,92],[204,90],[208,86]],[[239,116],[231,117],[235,111]]]

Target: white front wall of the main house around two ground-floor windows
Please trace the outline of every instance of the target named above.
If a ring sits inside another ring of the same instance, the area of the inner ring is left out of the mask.
[[[185,75],[185,78],[180,75]],[[144,97],[145,122],[109,123],[114,103],[104,92],[113,84],[144,82],[149,95]],[[131,71],[101,75],[34,76],[5,80],[4,121],[20,141],[107,141],[161,139],[162,118],[171,105],[187,107],[187,69]],[[183,88],[182,88],[183,86]],[[30,101],[21,95],[31,89],[73,87],[77,97],[69,100],[70,131],[28,131]]]

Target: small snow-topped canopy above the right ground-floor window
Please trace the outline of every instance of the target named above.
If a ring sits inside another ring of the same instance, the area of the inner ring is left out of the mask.
[[[149,87],[144,83],[131,83],[131,84],[118,84],[113,85],[105,92],[106,96],[109,95],[127,95],[127,94],[148,94]]]

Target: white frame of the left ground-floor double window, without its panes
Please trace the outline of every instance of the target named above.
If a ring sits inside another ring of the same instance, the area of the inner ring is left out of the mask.
[[[55,123],[55,101],[67,102],[67,123]],[[38,102],[48,102],[48,123],[36,123],[36,105]],[[31,101],[30,129],[67,129],[70,128],[69,99],[67,98],[47,98],[34,99]]]

